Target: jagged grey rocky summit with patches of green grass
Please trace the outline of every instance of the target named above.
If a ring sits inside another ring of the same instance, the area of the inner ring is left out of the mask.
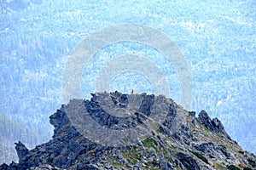
[[[99,127],[90,127],[89,116]],[[53,138],[32,150],[17,143],[19,163],[0,170],[256,167],[256,156],[230,139],[217,118],[206,111],[195,117],[164,96],[97,93],[71,100],[49,119]]]

